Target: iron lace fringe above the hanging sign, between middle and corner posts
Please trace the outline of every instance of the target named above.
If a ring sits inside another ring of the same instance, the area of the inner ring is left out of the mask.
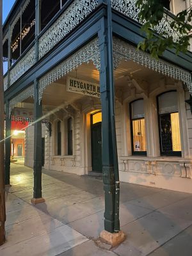
[[[68,74],[68,72],[74,70],[82,63],[88,63],[93,61],[95,67],[100,70],[100,50],[98,38],[95,38],[92,42],[82,47],[79,51],[75,52],[63,61],[60,65],[53,68],[50,72],[45,74],[39,80],[39,100],[42,100],[42,95],[45,88],[60,79],[62,76]]]

